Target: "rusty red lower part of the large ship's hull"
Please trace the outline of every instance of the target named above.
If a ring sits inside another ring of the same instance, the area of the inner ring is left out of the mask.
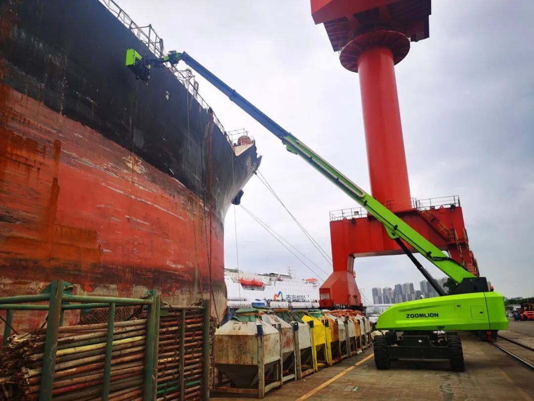
[[[0,90],[1,294],[61,278],[76,292],[158,288],[196,301],[209,288],[208,242],[212,286],[225,297],[223,228],[209,227],[198,196],[94,130]]]

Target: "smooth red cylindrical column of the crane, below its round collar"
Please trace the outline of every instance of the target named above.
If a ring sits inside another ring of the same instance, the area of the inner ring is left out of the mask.
[[[376,46],[358,57],[371,194],[391,210],[410,208],[397,83],[390,49]]]

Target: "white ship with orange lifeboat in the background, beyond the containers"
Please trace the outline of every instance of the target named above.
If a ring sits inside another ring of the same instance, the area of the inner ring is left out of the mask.
[[[288,273],[251,274],[225,268],[227,306],[319,307],[319,280],[299,279]]]

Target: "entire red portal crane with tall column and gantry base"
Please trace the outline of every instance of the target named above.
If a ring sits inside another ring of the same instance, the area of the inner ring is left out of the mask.
[[[372,196],[478,276],[459,197],[410,195],[394,65],[429,36],[430,0],[311,0],[311,13],[341,65],[359,74]],[[320,305],[361,307],[355,258],[405,251],[362,208],[331,212],[330,235],[334,272],[320,287]]]

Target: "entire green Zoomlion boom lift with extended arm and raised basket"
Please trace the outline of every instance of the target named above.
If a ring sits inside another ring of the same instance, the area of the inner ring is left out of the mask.
[[[469,273],[456,261],[447,257],[386,206],[350,181],[298,138],[280,127],[187,53],[172,51],[166,58],[170,59],[173,65],[179,60],[184,61],[228,96],[232,102],[241,107],[250,117],[276,135],[289,152],[302,157],[337,188],[362,205],[382,223],[389,237],[397,242],[419,271],[438,291],[438,294],[442,295],[438,298],[418,299],[395,304],[380,315],[378,322],[376,322],[376,328],[389,331],[385,336],[375,336],[374,356],[377,368],[387,369],[390,360],[400,358],[448,359],[454,371],[463,371],[464,356],[461,340],[457,333],[451,330],[496,333],[497,330],[508,327],[504,297],[489,291],[485,277],[477,277]],[[133,49],[128,50],[127,66],[136,72],[136,76],[139,78],[146,75],[147,71],[150,73],[151,63],[155,66],[161,66],[165,62],[166,60],[163,59],[147,61]],[[450,295],[445,295],[443,289],[415,259],[406,244],[412,246],[415,251],[421,253],[438,269],[458,283]]]

